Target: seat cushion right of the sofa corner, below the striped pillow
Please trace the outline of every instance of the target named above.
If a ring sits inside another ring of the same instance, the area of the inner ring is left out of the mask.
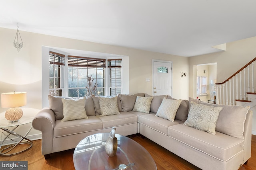
[[[169,126],[184,123],[184,121],[180,120],[174,120],[174,122],[172,122],[160,117],[156,117],[156,114],[152,112],[150,114],[140,115],[139,121],[141,124],[163,133],[164,135],[168,135]]]

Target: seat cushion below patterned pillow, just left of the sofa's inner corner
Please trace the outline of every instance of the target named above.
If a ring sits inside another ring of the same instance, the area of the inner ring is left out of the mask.
[[[122,126],[122,125],[128,125],[132,123],[138,123],[138,116],[126,111],[122,111],[118,115],[109,115],[109,116],[97,115],[97,117],[103,122],[103,129]]]

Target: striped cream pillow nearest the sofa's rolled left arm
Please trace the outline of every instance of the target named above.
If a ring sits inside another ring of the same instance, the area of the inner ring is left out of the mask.
[[[85,98],[81,99],[65,99],[62,98],[63,116],[61,121],[70,121],[76,119],[88,119],[85,106]]]

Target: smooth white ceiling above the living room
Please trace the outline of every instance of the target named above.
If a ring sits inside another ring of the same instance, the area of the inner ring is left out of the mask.
[[[256,0],[0,0],[0,27],[17,23],[21,31],[191,57],[256,36]]]

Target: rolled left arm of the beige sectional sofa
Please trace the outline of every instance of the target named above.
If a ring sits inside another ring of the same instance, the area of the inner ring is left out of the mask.
[[[42,132],[42,154],[53,152],[53,128],[55,126],[55,115],[49,107],[40,110],[32,121],[32,126]]]

